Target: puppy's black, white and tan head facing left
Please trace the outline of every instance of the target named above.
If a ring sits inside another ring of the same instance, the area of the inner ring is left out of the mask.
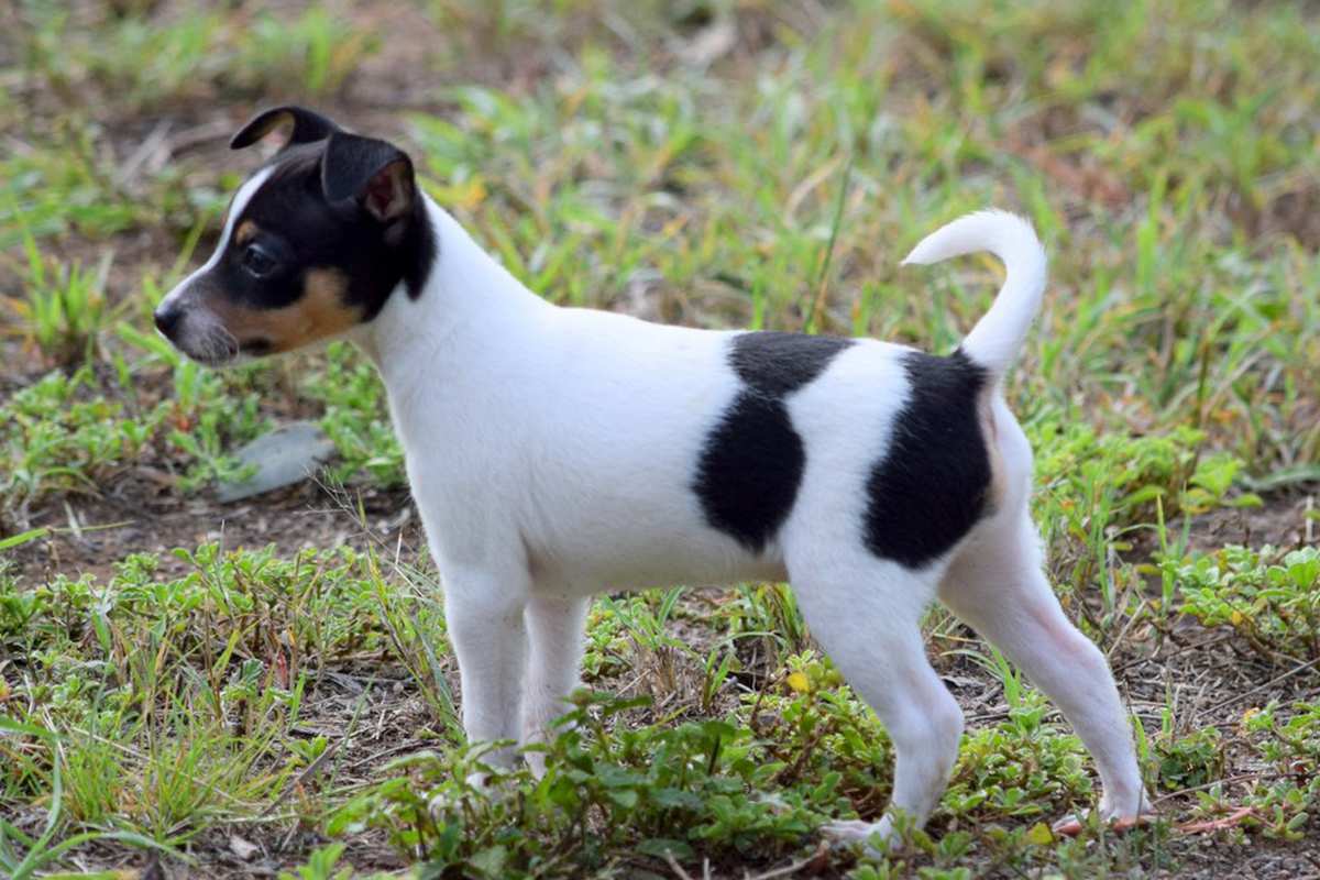
[[[222,365],[338,336],[404,284],[417,297],[434,256],[413,166],[399,148],[301,107],[276,107],[230,141],[290,125],[234,194],[219,244],[156,310],[185,355]]]

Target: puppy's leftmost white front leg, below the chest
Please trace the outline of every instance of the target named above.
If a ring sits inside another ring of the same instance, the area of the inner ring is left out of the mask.
[[[517,567],[455,567],[441,573],[445,620],[458,656],[463,730],[469,744],[516,740],[527,674],[529,579]],[[511,767],[513,749],[486,755],[495,767]]]

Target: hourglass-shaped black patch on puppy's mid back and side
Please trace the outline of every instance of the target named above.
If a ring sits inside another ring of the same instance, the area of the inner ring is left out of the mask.
[[[760,553],[788,519],[807,468],[784,400],[853,344],[836,336],[746,332],[729,363],[746,384],[706,438],[693,492],[706,522]]]

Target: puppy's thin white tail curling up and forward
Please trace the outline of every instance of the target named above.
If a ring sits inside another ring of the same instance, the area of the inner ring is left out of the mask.
[[[960,346],[974,363],[1002,376],[1027,339],[1045,290],[1045,249],[1031,223],[1007,211],[977,211],[940,227],[912,248],[903,265],[989,251],[1003,261],[1007,276],[999,294]]]

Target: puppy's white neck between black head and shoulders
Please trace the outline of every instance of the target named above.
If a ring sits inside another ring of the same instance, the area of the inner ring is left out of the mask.
[[[392,398],[421,383],[453,381],[503,348],[521,321],[552,309],[491,257],[447,211],[425,199],[436,257],[417,297],[400,285],[380,314],[350,334]]]

